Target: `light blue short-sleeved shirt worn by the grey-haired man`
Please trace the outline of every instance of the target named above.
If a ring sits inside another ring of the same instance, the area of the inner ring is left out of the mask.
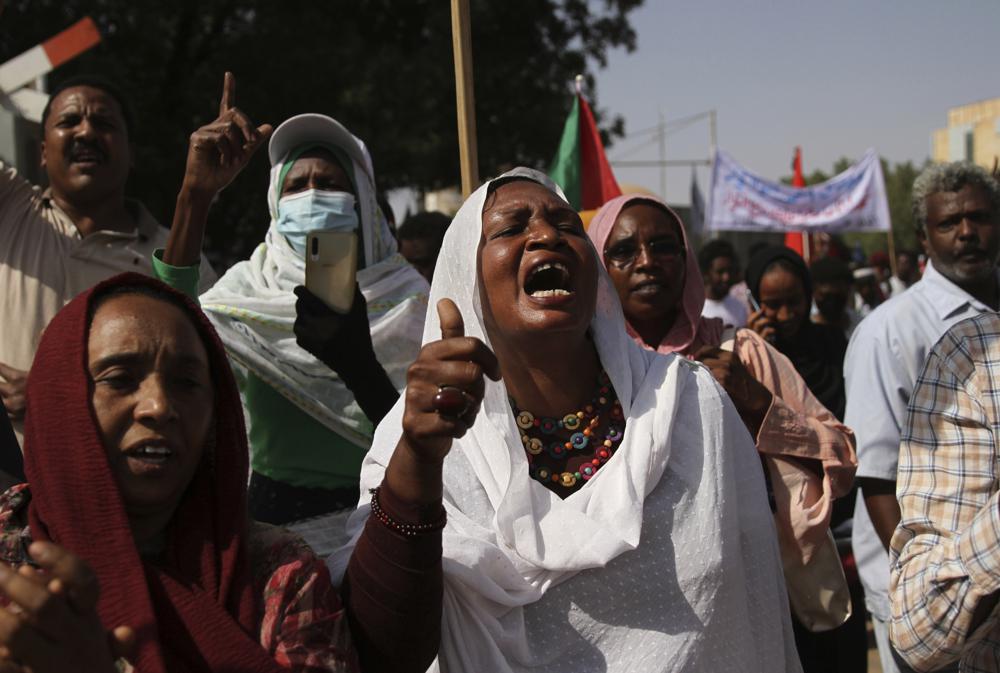
[[[991,310],[928,262],[920,281],[861,322],[844,359],[844,423],[857,437],[858,477],[896,480],[906,406],[928,351],[955,323]],[[885,621],[889,618],[889,554],[860,492],[852,545],[865,604]]]

